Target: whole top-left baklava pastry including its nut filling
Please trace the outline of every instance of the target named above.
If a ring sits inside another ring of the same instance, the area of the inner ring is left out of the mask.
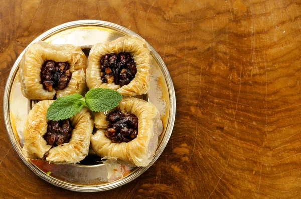
[[[86,56],[71,44],[52,45],[37,42],[22,57],[19,75],[22,94],[28,99],[45,100],[83,94]]]

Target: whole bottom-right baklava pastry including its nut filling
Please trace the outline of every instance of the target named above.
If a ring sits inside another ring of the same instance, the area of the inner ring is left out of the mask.
[[[92,135],[93,151],[129,166],[149,165],[158,144],[157,108],[141,99],[124,98],[116,109],[103,115],[95,115],[96,126],[102,128],[105,122],[108,125]]]

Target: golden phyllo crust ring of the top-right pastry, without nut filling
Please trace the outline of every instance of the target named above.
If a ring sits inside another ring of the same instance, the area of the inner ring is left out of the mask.
[[[128,52],[137,67],[135,78],[120,88],[114,83],[102,83],[100,59],[110,53]],[[89,89],[109,88],[117,90],[122,95],[135,96],[146,94],[150,85],[150,52],[148,44],[134,36],[123,36],[111,42],[95,44],[89,54],[86,82]]]

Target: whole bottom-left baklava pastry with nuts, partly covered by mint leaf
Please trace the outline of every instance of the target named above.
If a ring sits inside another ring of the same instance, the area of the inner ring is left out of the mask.
[[[29,112],[23,130],[22,151],[27,159],[77,163],[88,155],[93,120],[87,108],[70,119],[47,120],[47,109],[53,102],[40,101]]]

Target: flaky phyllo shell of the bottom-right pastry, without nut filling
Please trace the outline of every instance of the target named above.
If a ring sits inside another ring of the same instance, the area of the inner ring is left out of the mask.
[[[122,99],[117,109],[119,112],[112,115],[113,119],[115,119],[118,114],[122,114],[120,112],[125,112],[125,115],[131,113],[137,117],[138,134],[133,140],[114,142],[114,140],[107,137],[107,130],[104,129],[107,128],[108,118],[104,113],[97,113],[95,115],[95,127],[99,129],[91,138],[93,151],[101,157],[104,157],[104,159],[117,159],[118,162],[125,163],[129,166],[149,165],[158,144],[157,125],[160,119],[159,111],[152,103],[136,98]],[[134,116],[131,118],[134,120],[135,118],[133,117]],[[111,119],[111,117],[109,117],[109,119]],[[118,121],[116,123],[118,123]],[[123,129],[121,129],[121,131]]]

